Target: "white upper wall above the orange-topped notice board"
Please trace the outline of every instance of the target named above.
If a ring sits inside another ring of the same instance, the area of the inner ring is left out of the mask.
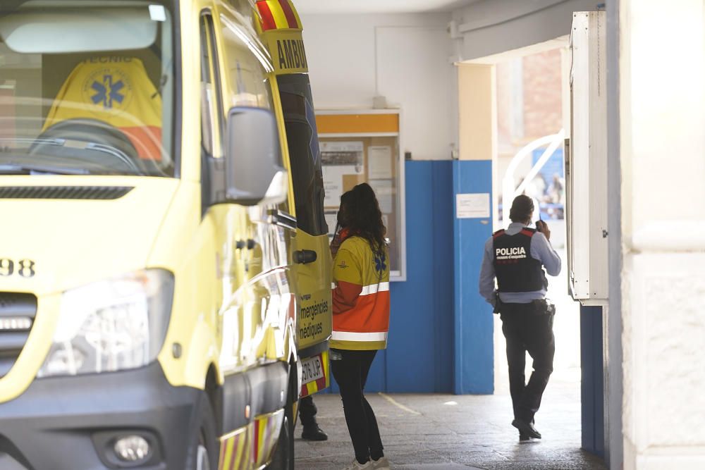
[[[377,95],[402,110],[403,151],[449,159],[457,146],[450,14],[305,15],[316,109],[371,109]]]

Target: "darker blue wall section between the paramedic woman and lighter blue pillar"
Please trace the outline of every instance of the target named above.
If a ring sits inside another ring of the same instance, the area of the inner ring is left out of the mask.
[[[452,392],[453,167],[407,161],[405,172],[407,280],[391,283],[388,347],[365,390]]]

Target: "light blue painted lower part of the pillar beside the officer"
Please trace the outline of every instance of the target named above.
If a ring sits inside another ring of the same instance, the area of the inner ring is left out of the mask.
[[[491,161],[453,161],[453,192],[492,192]],[[455,204],[455,202],[454,202]],[[491,214],[491,213],[490,213]],[[478,292],[484,242],[492,219],[455,218],[455,381],[457,394],[494,392],[494,320]]]

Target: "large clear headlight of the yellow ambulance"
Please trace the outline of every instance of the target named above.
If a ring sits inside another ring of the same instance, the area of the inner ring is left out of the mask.
[[[173,274],[137,271],[68,290],[38,377],[135,369],[154,361],[171,316]]]

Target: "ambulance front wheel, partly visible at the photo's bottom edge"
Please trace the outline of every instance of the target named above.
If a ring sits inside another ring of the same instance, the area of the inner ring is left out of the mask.
[[[205,394],[194,410],[193,430],[185,470],[218,470],[218,446],[213,407]]]

